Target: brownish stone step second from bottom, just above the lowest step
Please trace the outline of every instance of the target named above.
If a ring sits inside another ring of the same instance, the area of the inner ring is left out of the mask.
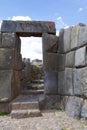
[[[28,110],[28,109],[39,109],[38,101],[30,102],[14,102],[12,103],[12,110]]]

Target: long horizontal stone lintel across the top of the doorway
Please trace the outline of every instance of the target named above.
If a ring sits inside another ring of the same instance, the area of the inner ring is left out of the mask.
[[[6,21],[2,22],[1,32],[16,32],[20,36],[41,36],[42,33],[55,34],[55,23],[44,21]]]

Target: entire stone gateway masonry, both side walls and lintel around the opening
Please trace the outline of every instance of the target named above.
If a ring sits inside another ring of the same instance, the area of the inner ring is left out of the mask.
[[[87,25],[61,29],[54,22],[3,21],[0,32],[0,111],[21,92],[22,37],[42,37],[44,108],[87,118]]]

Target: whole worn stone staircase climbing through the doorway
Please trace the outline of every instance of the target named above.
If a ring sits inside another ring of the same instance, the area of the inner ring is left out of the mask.
[[[43,81],[33,81],[32,89],[22,90],[21,94],[11,103],[11,118],[27,118],[42,116],[40,109],[44,105]]]

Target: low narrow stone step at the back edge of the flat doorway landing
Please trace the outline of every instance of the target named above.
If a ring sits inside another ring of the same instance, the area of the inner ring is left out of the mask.
[[[38,94],[43,94],[44,93],[44,89],[39,89],[39,90],[22,90],[21,94],[24,95],[30,95],[30,94],[34,94],[34,95],[38,95]]]

